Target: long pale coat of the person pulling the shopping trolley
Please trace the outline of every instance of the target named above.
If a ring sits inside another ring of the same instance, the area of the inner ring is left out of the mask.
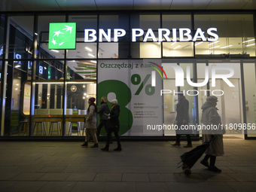
[[[203,113],[201,122],[203,126],[215,126],[215,129],[202,129],[202,142],[208,142],[212,135],[215,135],[215,140],[206,150],[206,154],[214,156],[224,155],[223,134],[226,133],[222,129],[221,117],[218,114],[217,108],[210,102],[205,102],[202,106]],[[218,129],[216,129],[218,128]]]

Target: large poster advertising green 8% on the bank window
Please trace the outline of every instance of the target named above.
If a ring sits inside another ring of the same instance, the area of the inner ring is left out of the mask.
[[[162,131],[148,129],[151,125],[163,124],[160,61],[100,60],[97,103],[102,96],[106,96],[108,102],[118,100],[120,136],[163,136]]]

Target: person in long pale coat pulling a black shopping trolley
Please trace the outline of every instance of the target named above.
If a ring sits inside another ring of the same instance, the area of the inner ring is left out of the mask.
[[[204,126],[215,126],[218,129],[203,129],[202,130],[202,142],[208,142],[212,135],[215,136],[212,144],[207,148],[205,154],[206,156],[200,161],[203,166],[208,167],[209,171],[221,172],[215,166],[216,156],[224,155],[224,145],[223,145],[223,134],[226,133],[223,129],[221,123],[221,117],[218,114],[218,108],[216,108],[218,98],[216,96],[209,96],[206,102],[202,105],[203,113],[201,122]],[[210,164],[208,160],[210,159]]]

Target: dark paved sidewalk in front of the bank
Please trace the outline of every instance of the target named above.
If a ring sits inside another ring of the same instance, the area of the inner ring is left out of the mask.
[[[225,155],[216,162],[222,172],[209,172],[197,162],[190,176],[175,165],[191,148],[121,144],[123,151],[113,151],[114,142],[103,152],[103,142],[99,148],[81,148],[81,142],[0,142],[0,191],[256,191],[254,140],[224,139]]]

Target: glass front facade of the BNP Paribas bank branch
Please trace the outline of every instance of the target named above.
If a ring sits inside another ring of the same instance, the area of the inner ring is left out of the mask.
[[[87,99],[102,96],[120,103],[121,136],[175,136],[152,127],[172,125],[184,92],[190,125],[215,94],[227,133],[254,138],[233,129],[256,123],[254,15],[230,13],[1,14],[1,136],[83,136]],[[50,37],[50,23],[65,26]],[[75,49],[49,49],[72,30]]]

